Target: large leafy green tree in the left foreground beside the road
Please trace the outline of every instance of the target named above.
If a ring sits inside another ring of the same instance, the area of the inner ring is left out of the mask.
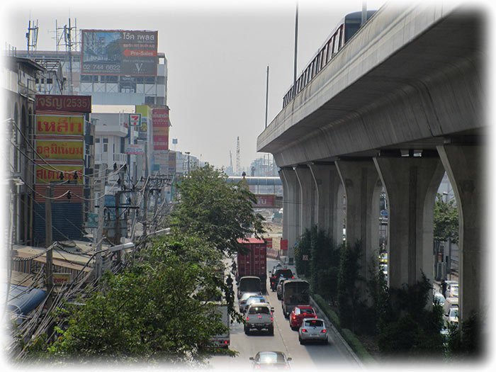
[[[210,338],[225,330],[212,301],[225,291],[219,257],[196,237],[154,240],[122,273],[107,273],[83,306],[60,310],[46,356],[201,363]],[[32,357],[39,358],[43,348],[35,346]]]

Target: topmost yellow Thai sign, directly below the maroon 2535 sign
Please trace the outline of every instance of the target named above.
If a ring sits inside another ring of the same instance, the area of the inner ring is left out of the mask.
[[[84,135],[84,117],[36,115],[35,135]]]

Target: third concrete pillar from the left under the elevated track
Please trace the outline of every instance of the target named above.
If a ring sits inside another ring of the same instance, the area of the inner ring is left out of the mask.
[[[343,194],[344,188],[336,165],[310,164],[315,181],[315,223],[319,229],[329,233],[332,242],[338,246],[343,242]]]

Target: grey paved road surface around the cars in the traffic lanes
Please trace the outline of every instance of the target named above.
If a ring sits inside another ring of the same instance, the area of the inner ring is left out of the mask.
[[[276,260],[267,259],[269,269],[276,263]],[[267,283],[269,286],[269,280]],[[274,336],[257,331],[252,331],[246,335],[241,324],[232,324],[230,349],[238,351],[239,354],[234,358],[214,356],[210,359],[210,366],[225,371],[246,370],[251,367],[249,357],[254,356],[257,351],[278,350],[284,351],[286,355],[293,358],[291,363],[293,371],[322,371],[322,369],[342,369],[343,367],[359,368],[359,363],[342,343],[342,339],[334,332],[329,333],[329,344],[327,345],[300,345],[298,332],[289,327],[289,322],[282,312],[281,301],[277,299],[276,293],[269,288],[266,298],[274,307]],[[322,316],[318,312],[317,315]]]

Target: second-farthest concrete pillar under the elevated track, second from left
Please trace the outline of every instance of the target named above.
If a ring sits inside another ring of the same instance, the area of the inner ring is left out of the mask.
[[[315,182],[312,178],[312,172],[307,166],[295,167],[295,173],[300,184],[301,223],[298,236],[301,236],[306,229],[310,230],[310,227],[315,225]]]

